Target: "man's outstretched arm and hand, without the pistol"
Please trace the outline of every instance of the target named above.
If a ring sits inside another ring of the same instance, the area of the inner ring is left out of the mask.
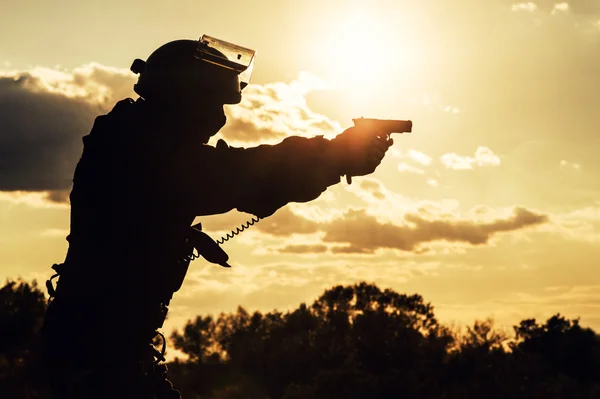
[[[198,216],[237,209],[266,217],[289,202],[314,200],[348,171],[373,172],[391,145],[355,130],[333,140],[292,136],[253,148],[203,146],[182,164],[186,202]]]

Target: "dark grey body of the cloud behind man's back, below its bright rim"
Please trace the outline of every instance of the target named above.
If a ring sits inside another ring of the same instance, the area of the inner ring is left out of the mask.
[[[36,91],[38,78],[0,77],[0,190],[68,189],[97,106]]]

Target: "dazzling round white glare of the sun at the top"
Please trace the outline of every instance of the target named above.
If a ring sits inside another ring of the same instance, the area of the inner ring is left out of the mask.
[[[362,4],[337,19],[321,53],[324,79],[344,93],[345,107],[363,111],[383,99],[397,100],[415,84],[423,55],[408,14],[391,18],[370,6]]]

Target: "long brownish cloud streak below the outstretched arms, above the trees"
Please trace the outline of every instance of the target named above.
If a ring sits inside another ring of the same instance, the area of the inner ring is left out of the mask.
[[[478,209],[479,210],[479,209]],[[477,211],[475,211],[477,213]],[[481,213],[481,212],[479,212]],[[488,215],[490,212],[486,212]],[[424,216],[428,216],[425,218]],[[377,249],[391,248],[413,253],[425,253],[424,244],[451,242],[485,245],[498,233],[521,230],[549,222],[547,215],[515,207],[512,215],[487,222],[462,220],[448,214],[407,213],[402,224],[382,223],[365,210],[349,210],[328,223],[316,223],[282,208],[272,218],[260,221],[258,230],[273,236],[323,232],[324,243],[337,254],[372,254]],[[322,253],[325,244],[288,245],[278,252]]]

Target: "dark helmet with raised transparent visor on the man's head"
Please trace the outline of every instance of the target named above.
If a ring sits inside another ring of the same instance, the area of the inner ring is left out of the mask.
[[[134,91],[150,101],[195,102],[198,98],[238,104],[248,85],[256,52],[203,35],[160,46],[146,61],[136,59]]]

